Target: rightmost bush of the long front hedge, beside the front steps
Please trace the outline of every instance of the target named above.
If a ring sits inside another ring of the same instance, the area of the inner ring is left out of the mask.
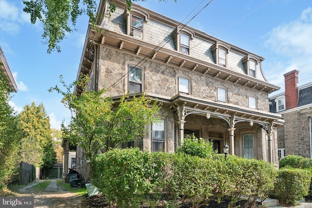
[[[230,155],[226,160],[229,181],[229,195],[232,197],[232,204],[246,196],[249,207],[253,207],[255,200],[269,198],[274,189],[276,170],[273,164],[262,160],[246,159]]]

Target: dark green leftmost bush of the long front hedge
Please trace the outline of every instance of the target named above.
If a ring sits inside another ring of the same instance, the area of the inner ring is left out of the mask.
[[[136,149],[113,149],[91,162],[93,184],[119,208],[137,208],[152,190],[151,154]]]

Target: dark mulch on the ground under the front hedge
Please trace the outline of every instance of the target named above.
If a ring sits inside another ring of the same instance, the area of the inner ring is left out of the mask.
[[[220,204],[218,204],[216,201],[211,200],[209,202],[208,206],[202,206],[201,208],[228,208],[230,200],[224,199],[221,201]],[[102,194],[93,195],[93,196],[85,196],[80,202],[80,205],[82,208],[112,208],[109,206],[109,204],[106,201],[105,196]],[[237,207],[239,208],[248,208],[247,200],[241,200],[236,203]],[[192,204],[183,205],[180,208],[191,208]],[[261,208],[261,205],[256,204],[255,208]],[[142,207],[142,208],[148,208],[148,207]],[[160,207],[158,207],[160,208]]]

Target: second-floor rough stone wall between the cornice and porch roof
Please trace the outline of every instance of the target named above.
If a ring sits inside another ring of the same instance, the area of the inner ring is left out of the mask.
[[[110,88],[108,94],[111,96],[123,95],[128,91],[128,64],[138,64],[144,72],[144,92],[172,97],[178,93],[177,77],[186,76],[191,81],[190,94],[195,97],[216,101],[216,88],[222,86],[227,89],[228,103],[247,107],[248,96],[253,95],[257,98],[257,109],[269,111],[266,93],[153,60],[141,62],[141,57],[100,46],[98,87]]]

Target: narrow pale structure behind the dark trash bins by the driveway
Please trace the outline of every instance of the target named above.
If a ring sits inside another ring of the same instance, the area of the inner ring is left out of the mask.
[[[76,146],[63,139],[62,148],[64,149],[62,179],[65,181],[69,169],[76,169]]]

